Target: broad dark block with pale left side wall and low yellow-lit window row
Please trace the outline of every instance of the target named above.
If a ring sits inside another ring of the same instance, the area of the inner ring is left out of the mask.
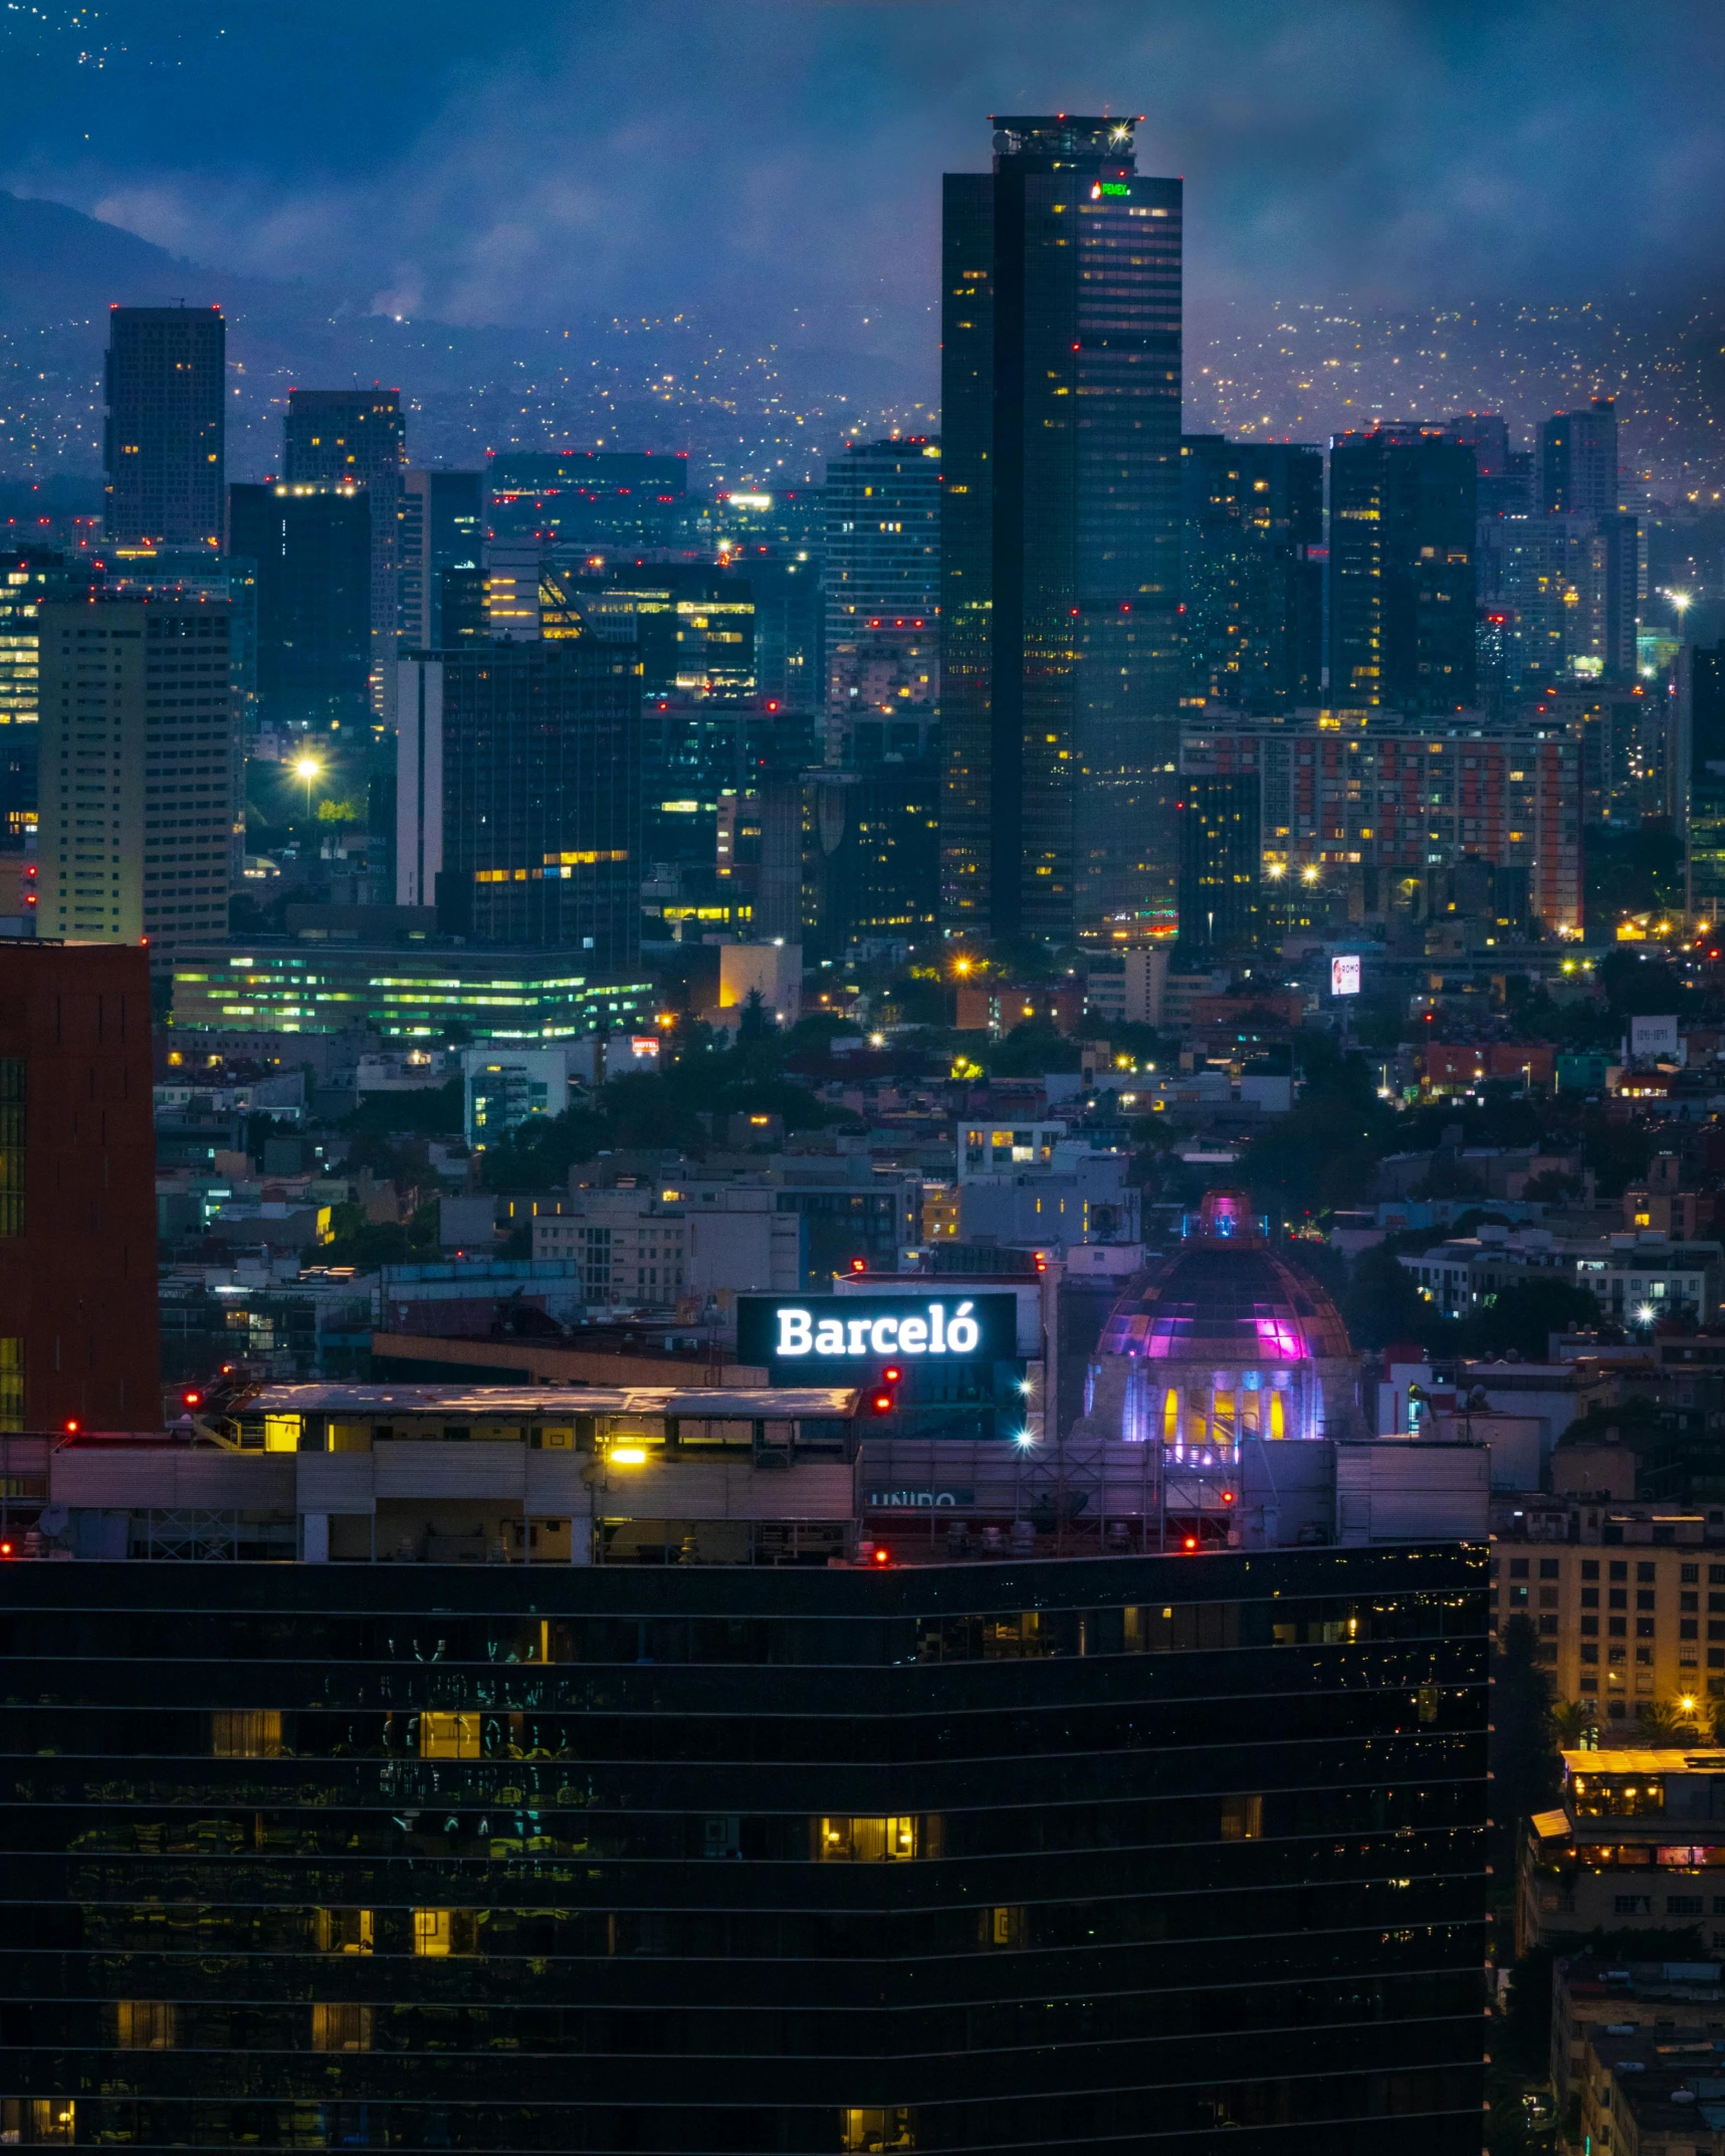
[[[640,957],[640,675],[593,630],[401,660],[397,901],[479,944]]]

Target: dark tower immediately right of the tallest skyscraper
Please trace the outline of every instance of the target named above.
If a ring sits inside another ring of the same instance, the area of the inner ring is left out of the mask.
[[[1188,433],[1182,479],[1186,694],[1248,711],[1324,694],[1324,451]]]

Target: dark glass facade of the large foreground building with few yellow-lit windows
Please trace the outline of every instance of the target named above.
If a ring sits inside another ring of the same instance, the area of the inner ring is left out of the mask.
[[[0,2128],[1473,2156],[1484,1565],[2,1567]]]

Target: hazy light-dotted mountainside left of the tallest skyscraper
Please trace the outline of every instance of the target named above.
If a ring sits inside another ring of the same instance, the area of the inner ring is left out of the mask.
[[[852,429],[929,425],[899,369],[806,332],[774,343],[694,315],[589,319],[567,334],[397,321],[351,293],[205,270],[63,203],[0,192],[0,479],[95,476],[108,308],[177,300],[216,302],[229,321],[231,479],[280,468],[295,382],[399,386],[416,459],[582,440],[686,448],[729,485],[804,485]]]

